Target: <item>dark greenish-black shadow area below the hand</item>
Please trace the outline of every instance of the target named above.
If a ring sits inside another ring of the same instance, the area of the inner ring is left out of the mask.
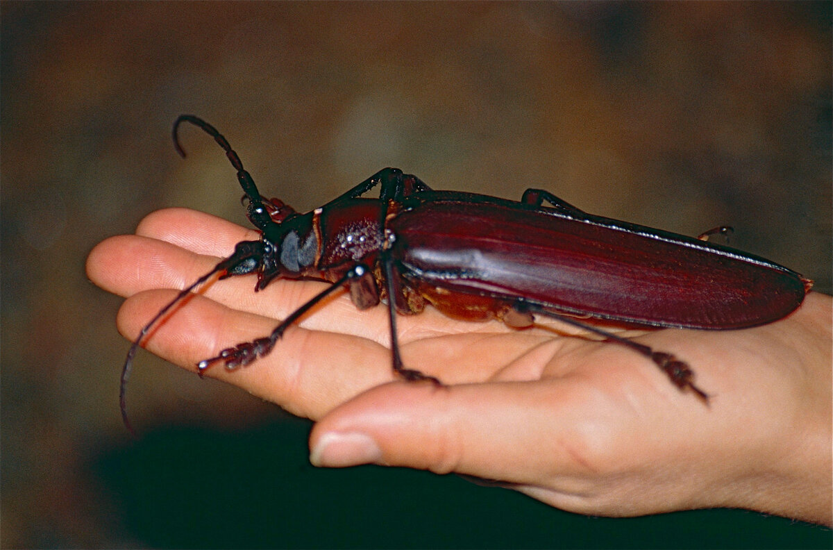
[[[147,547],[829,548],[831,531],[741,510],[585,517],[453,475],[310,466],[310,423],[163,428],[90,459]]]

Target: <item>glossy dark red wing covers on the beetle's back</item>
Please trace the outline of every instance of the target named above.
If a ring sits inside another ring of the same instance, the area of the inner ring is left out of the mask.
[[[402,278],[439,308],[456,300],[458,314],[522,297],[631,323],[744,328],[785,317],[811,286],[696,238],[468,193],[420,193],[388,228]]]

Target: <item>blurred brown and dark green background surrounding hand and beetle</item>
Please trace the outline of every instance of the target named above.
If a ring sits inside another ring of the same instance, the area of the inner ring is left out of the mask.
[[[308,421],[140,353],[84,274],[157,208],[246,223],[379,168],[732,245],[831,292],[831,2],[2,2],[2,547],[831,547],[744,511],[605,519],[316,470]]]

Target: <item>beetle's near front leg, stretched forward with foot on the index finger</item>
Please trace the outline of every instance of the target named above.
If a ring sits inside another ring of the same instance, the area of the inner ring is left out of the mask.
[[[252,363],[255,359],[267,355],[272,351],[272,348],[275,347],[275,343],[277,343],[277,341],[282,337],[287,328],[289,328],[292,323],[295,323],[304,313],[307,313],[310,308],[321,302],[324,298],[327,298],[330,294],[342,288],[344,283],[361,279],[366,273],[370,273],[370,269],[367,268],[365,264],[359,263],[353,266],[347,273],[342,275],[342,278],[339,278],[335,283],[332,283],[331,286],[325,288],[322,292],[317,293],[307,303],[304,303],[300,308],[297,308],[294,312],[292,312],[289,317],[284,319],[283,323],[279,324],[269,336],[266,338],[257,338],[257,340],[253,340],[252,342],[239,343],[233,348],[226,348],[222,350],[222,352],[217,354],[216,357],[200,361],[197,363],[197,374],[202,377],[207,368],[211,367],[214,363],[219,362],[225,363],[227,370],[232,371],[239,367],[245,367],[247,364]]]

